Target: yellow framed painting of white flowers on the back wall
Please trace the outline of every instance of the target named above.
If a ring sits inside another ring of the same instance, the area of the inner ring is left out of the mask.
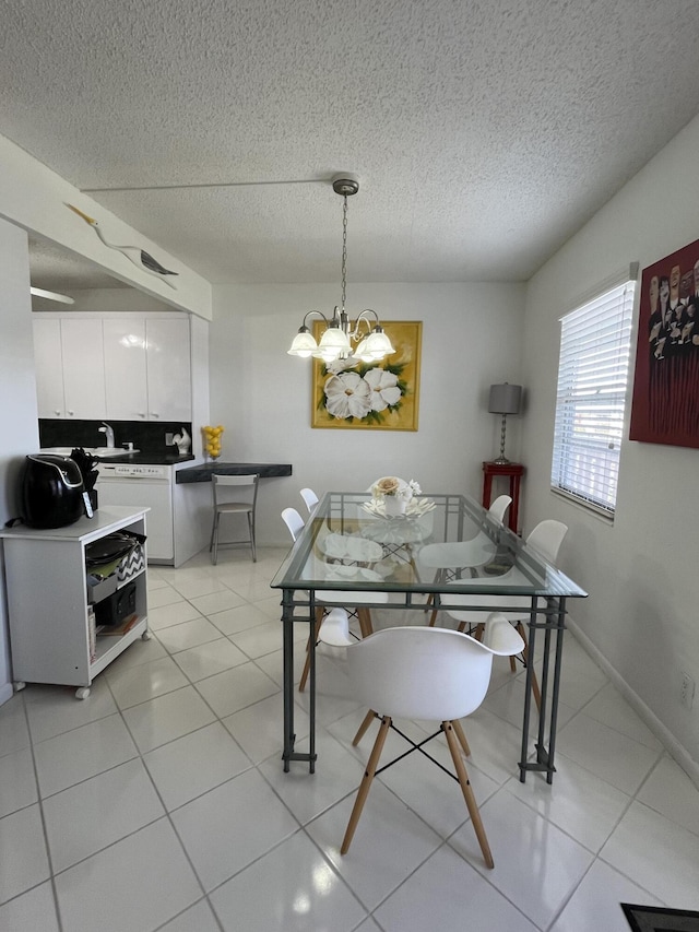
[[[417,430],[423,325],[382,326],[395,353],[380,363],[313,361],[312,427]],[[317,340],[322,329],[322,321],[316,321]]]

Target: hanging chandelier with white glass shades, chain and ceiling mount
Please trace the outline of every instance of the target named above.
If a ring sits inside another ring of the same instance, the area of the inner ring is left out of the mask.
[[[298,329],[291,347],[287,350],[289,356],[315,356],[324,363],[333,363],[335,359],[352,359],[348,365],[357,362],[378,363],[384,356],[394,353],[391,341],[383,332],[379,315],[370,307],[363,310],[352,326],[345,310],[345,296],[347,291],[347,198],[356,194],[359,190],[359,181],[354,175],[344,173],[335,175],[332,179],[332,189],[343,198],[342,208],[342,300],[341,306],[335,305],[332,319],[328,320],[320,310],[309,310],[304,317],[304,322]],[[365,315],[374,315],[376,323],[374,328]],[[320,338],[320,344],[316,342],[313,334],[307,326],[309,317],[322,317],[325,321],[325,330]],[[366,334],[362,335],[362,328],[366,327]],[[353,349],[352,343],[358,343]]]

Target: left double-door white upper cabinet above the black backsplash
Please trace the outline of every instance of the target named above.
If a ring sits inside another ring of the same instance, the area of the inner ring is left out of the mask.
[[[102,320],[36,317],[32,325],[39,417],[104,417]]]

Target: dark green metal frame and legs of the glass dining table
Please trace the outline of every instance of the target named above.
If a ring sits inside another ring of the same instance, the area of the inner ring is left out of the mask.
[[[464,528],[469,522],[473,527],[481,524],[487,530],[485,509],[478,505],[475,499],[464,495],[448,495],[434,494],[428,497],[439,503],[445,515],[445,527],[450,519],[457,516],[457,539],[461,539]],[[560,694],[560,673],[562,660],[562,636],[566,628],[565,620],[567,614],[566,601],[570,597],[584,598],[584,592],[580,587],[572,582],[568,577],[561,574],[547,564],[542,558],[529,551],[522,541],[514,534],[511,534],[505,529],[493,527],[493,533],[498,534],[498,543],[509,548],[510,554],[514,558],[514,566],[518,568],[528,569],[533,574],[534,568],[538,574],[543,574],[546,585],[540,585],[536,591],[534,585],[508,586],[498,587],[497,585],[487,586],[481,580],[474,585],[469,578],[459,580],[457,585],[453,582],[446,585],[435,581],[413,581],[410,585],[377,585],[363,583],[362,586],[352,586],[347,582],[330,581],[327,579],[303,578],[301,569],[306,566],[306,562],[311,554],[315,541],[320,527],[328,527],[342,532],[345,527],[351,527],[353,519],[347,515],[346,509],[350,505],[356,505],[362,498],[367,498],[366,495],[357,495],[356,493],[328,493],[323,499],[316,506],[309,521],[299,534],[289,555],[282,565],[276,577],[272,581],[273,588],[282,590],[282,624],[283,624],[283,648],[284,648],[284,752],[283,762],[284,770],[288,772],[291,763],[294,760],[304,762],[309,765],[309,771],[312,774],[316,769],[316,590],[323,591],[332,589],[357,589],[366,597],[370,591],[390,591],[395,599],[400,599],[386,603],[366,603],[366,606],[371,609],[425,609],[425,595],[433,597],[435,604],[440,610],[452,609],[454,611],[463,610],[463,605],[449,603],[448,598],[451,593],[469,593],[484,594],[491,597],[493,594],[507,594],[522,597],[522,612],[529,612],[529,652],[530,657],[534,658],[537,632],[543,633],[544,649],[543,649],[543,670],[541,676],[541,712],[538,717],[538,731],[535,741],[535,756],[532,760],[528,759],[529,746],[529,725],[532,715],[532,679],[533,663],[526,665],[526,681],[524,708],[522,718],[522,744],[521,756],[519,760],[520,780],[524,782],[529,770],[546,774],[546,782],[553,782],[553,776],[556,770],[554,766],[554,755],[556,745],[556,727],[558,718],[558,698]],[[356,510],[355,510],[356,514]],[[452,521],[453,528],[453,521]],[[495,540],[495,539],[494,539]],[[533,576],[532,576],[533,578]],[[540,580],[541,581],[541,580]],[[420,600],[420,601],[418,601]],[[343,605],[343,602],[329,602],[323,600],[325,605]],[[365,603],[363,602],[363,605]],[[469,611],[481,611],[490,613],[494,611],[491,605],[469,605]],[[512,605],[509,605],[509,611],[512,611]],[[294,625],[307,624],[309,626],[310,637],[310,673],[308,680],[309,691],[309,748],[308,752],[301,753],[295,750],[296,734],[294,731]],[[555,641],[555,646],[553,645]],[[553,671],[550,670],[553,652]],[[553,675],[552,675],[553,674]],[[548,715],[548,719],[547,719]],[[548,746],[546,746],[546,724],[548,723]]]

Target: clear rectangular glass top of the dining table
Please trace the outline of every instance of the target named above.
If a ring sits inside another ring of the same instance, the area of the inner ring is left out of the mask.
[[[408,597],[588,594],[466,495],[424,494],[396,517],[386,514],[384,500],[368,492],[324,495],[271,586]]]

